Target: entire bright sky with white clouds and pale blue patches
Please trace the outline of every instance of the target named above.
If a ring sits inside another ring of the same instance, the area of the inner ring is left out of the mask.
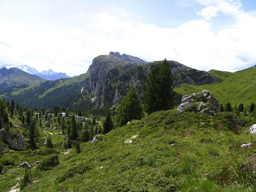
[[[255,0],[0,0],[0,65],[86,73],[109,52],[235,72],[256,65]]]

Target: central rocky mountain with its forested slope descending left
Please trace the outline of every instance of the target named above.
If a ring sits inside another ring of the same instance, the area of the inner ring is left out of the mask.
[[[106,110],[118,105],[132,85],[143,100],[142,85],[146,83],[151,69],[161,63],[162,61],[154,61],[143,65],[121,60],[114,55],[100,55],[93,59],[88,72],[81,75],[82,78],[79,76],[71,78],[78,80],[74,84],[67,86],[67,80],[59,79],[26,88],[24,91],[13,92],[9,97],[5,94],[5,97],[7,100],[14,99],[28,108],[53,108],[58,103],[64,108],[81,110],[104,108]],[[168,63],[175,77],[174,86],[182,83],[210,84],[221,81],[220,78],[208,72],[192,69],[177,61],[168,61]],[[176,104],[178,102],[177,100]],[[97,113],[100,112],[103,115],[104,110],[98,110]]]

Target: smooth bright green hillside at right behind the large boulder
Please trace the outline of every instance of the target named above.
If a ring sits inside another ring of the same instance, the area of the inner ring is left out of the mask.
[[[232,106],[239,103],[244,105],[251,105],[255,103],[256,92],[256,67],[250,67],[234,73],[210,70],[215,76],[223,79],[221,83],[204,84],[204,85],[188,85],[181,84],[174,88],[174,91],[187,95],[194,92],[201,92],[202,90],[208,90],[216,97],[221,104],[230,102]]]

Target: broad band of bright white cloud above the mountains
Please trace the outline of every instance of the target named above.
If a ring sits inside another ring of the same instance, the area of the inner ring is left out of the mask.
[[[204,19],[177,28],[159,28],[116,8],[79,18],[82,29],[55,33],[33,32],[0,17],[0,59],[6,64],[27,64],[38,71],[52,68],[69,76],[85,73],[94,57],[110,51],[146,61],[176,60],[201,70],[234,71],[255,65],[255,13],[245,13],[239,1],[200,3],[206,6],[198,12]],[[232,15],[236,23],[212,33],[208,20],[218,18],[217,13]]]

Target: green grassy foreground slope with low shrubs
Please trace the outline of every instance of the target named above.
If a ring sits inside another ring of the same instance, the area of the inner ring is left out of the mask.
[[[234,129],[233,115],[226,112],[210,119],[176,110],[133,120],[95,144],[82,143],[80,153],[74,148],[66,155],[60,152],[59,165],[31,169],[33,184],[23,191],[255,191],[256,175],[248,159],[256,158],[256,146],[240,147],[255,143],[255,136],[244,132],[255,117],[240,117],[239,123],[247,126]],[[1,175],[2,191],[24,174],[16,167],[20,162],[47,158],[36,152],[5,156],[16,160]]]

